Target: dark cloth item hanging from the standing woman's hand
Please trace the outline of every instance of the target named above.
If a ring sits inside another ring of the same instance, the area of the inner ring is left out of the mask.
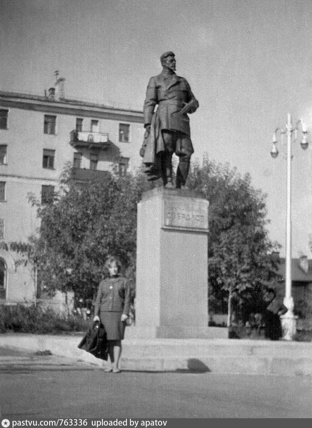
[[[92,323],[86,335],[78,345],[79,349],[89,352],[96,358],[107,361],[108,358],[108,342],[106,339],[106,331],[103,324],[98,321]]]

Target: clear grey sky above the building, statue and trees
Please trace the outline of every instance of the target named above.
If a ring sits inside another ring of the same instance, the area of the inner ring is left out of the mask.
[[[0,40],[0,90],[44,95],[59,70],[66,98],[138,110],[173,51],[199,100],[192,159],[250,173],[281,256],[287,170],[281,143],[270,157],[272,134],[288,113],[302,118],[310,145],[292,142],[292,256],[312,258],[311,0],[0,0]]]

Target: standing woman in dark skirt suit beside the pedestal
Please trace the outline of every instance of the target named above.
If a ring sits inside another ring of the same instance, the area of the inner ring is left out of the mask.
[[[93,321],[101,321],[106,330],[108,354],[111,367],[107,372],[119,373],[119,358],[122,351],[125,321],[130,309],[131,292],[126,278],[119,276],[121,264],[115,257],[105,262],[110,277],[100,282],[95,300]]]

